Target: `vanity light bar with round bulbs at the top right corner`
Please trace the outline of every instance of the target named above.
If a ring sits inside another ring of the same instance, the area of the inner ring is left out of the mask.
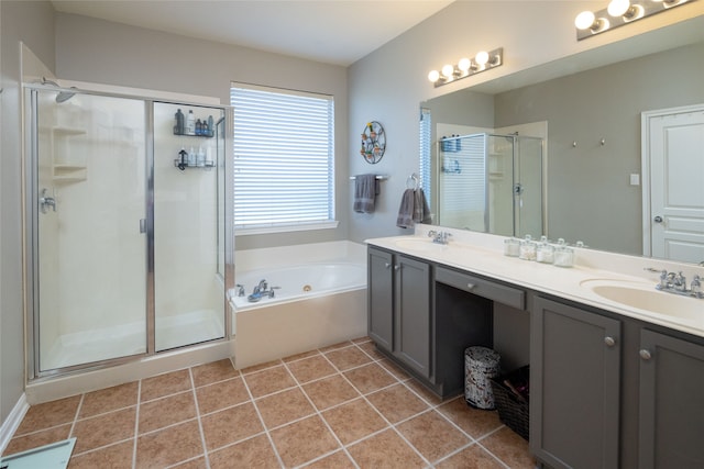
[[[597,12],[583,11],[574,19],[576,40],[582,41],[604,31],[623,26],[641,18],[661,13],[695,0],[610,0],[608,7]]]

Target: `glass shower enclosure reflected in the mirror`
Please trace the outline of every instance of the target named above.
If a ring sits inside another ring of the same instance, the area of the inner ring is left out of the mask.
[[[543,234],[542,138],[446,137],[437,155],[438,224],[504,236]]]

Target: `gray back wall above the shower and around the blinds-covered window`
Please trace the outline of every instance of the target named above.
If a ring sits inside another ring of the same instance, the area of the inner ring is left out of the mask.
[[[238,236],[235,243],[238,249],[249,249],[348,237],[346,208],[351,185],[345,152],[348,92],[344,67],[57,12],[56,76],[211,96],[222,103],[230,102],[231,81],[334,96],[338,228]]]

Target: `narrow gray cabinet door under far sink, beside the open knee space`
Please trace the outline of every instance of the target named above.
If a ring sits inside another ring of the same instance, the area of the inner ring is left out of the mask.
[[[396,356],[430,377],[430,267],[396,256]]]

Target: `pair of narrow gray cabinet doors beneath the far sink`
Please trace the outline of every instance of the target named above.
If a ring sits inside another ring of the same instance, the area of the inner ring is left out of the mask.
[[[369,248],[370,337],[422,378],[430,378],[430,279],[427,263]]]

